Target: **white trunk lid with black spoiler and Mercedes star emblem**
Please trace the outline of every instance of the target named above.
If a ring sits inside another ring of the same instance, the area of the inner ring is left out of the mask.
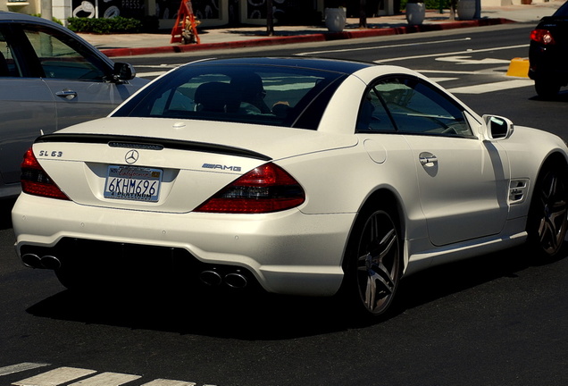
[[[187,213],[262,164],[355,144],[311,130],[105,118],[38,138],[34,154],[78,204]]]

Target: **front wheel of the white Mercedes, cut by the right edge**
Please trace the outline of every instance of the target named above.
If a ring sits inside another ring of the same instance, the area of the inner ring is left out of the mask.
[[[545,165],[530,202],[527,232],[533,252],[553,258],[564,247],[568,229],[568,175],[566,167]]]

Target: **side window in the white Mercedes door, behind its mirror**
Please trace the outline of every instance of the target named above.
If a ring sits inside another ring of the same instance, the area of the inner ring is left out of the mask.
[[[380,80],[374,91],[400,132],[471,137],[462,108],[439,90],[414,78]]]

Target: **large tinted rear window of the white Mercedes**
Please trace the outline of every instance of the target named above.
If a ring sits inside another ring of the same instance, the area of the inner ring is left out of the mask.
[[[262,65],[188,65],[113,116],[243,122],[315,130],[343,73]]]

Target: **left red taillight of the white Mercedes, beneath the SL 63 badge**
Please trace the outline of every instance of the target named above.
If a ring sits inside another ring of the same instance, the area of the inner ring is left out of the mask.
[[[38,163],[31,147],[21,163],[21,190],[34,196],[69,199]]]

